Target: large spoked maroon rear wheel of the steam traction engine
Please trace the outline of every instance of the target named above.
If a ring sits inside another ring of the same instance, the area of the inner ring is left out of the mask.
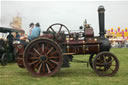
[[[57,43],[51,41],[49,39],[35,40],[25,49],[24,65],[33,76],[52,76],[59,71],[62,65],[62,52]],[[40,46],[41,43],[42,47]]]

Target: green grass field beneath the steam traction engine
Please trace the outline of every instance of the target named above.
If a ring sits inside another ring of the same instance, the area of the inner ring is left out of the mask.
[[[61,68],[54,77],[32,77],[26,69],[16,63],[5,67],[0,65],[0,85],[128,85],[128,48],[113,48],[120,68],[113,77],[99,77],[86,63],[71,62],[70,68]],[[88,61],[89,56],[75,56],[77,60]]]

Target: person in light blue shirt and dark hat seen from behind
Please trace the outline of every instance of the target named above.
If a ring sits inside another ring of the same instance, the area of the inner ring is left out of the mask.
[[[31,35],[28,37],[29,40],[33,40],[40,36],[40,24],[36,23],[35,27],[32,29]]]

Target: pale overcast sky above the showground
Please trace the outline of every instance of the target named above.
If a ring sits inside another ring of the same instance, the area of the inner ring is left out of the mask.
[[[9,26],[12,17],[22,17],[22,28],[28,33],[31,22],[39,22],[45,31],[53,23],[62,23],[70,30],[78,30],[87,19],[99,33],[99,5],[104,5],[105,27],[128,27],[128,1],[1,1],[1,25]]]

